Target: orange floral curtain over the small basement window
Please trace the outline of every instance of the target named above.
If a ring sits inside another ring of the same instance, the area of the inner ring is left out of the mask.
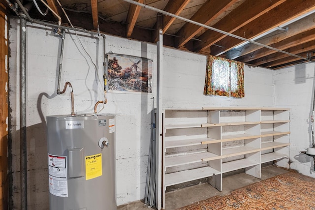
[[[206,81],[203,94],[244,97],[244,63],[207,56]]]

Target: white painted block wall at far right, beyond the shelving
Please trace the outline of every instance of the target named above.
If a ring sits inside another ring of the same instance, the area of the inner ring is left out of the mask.
[[[276,104],[290,108],[290,168],[315,177],[313,157],[300,153],[312,146],[311,116],[315,90],[315,63],[275,71]]]

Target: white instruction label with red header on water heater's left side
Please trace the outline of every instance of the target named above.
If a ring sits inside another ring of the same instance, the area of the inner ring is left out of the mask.
[[[49,192],[68,197],[66,156],[48,154]]]

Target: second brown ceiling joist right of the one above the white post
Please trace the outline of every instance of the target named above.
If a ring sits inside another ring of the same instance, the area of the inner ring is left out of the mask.
[[[212,27],[233,33],[235,30],[252,22],[254,19],[275,8],[284,1],[285,0],[246,0]],[[195,42],[195,51],[203,51],[226,36],[227,35],[214,30],[206,30],[198,37],[202,42]]]

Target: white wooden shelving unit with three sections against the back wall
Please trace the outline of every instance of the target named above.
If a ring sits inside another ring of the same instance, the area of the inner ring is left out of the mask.
[[[245,169],[260,179],[262,163],[285,167],[289,121],[287,108],[164,110],[163,192],[201,178],[221,191],[223,173]]]

